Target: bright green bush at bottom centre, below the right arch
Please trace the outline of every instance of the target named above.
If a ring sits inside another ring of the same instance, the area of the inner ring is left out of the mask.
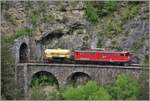
[[[104,88],[98,87],[94,81],[89,81],[86,85],[78,86],[77,88],[68,87],[64,91],[63,97],[65,100],[100,100],[111,98],[108,92]]]

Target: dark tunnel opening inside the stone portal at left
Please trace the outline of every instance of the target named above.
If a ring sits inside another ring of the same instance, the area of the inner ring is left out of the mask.
[[[19,62],[28,62],[28,46],[26,43],[22,43],[19,48]]]

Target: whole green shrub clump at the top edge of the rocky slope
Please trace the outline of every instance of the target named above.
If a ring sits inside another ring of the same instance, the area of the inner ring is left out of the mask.
[[[110,0],[110,1],[104,1],[104,3],[89,1],[86,3],[85,14],[89,21],[96,24],[98,23],[99,18],[111,14],[116,10],[116,8],[117,8],[116,1]]]

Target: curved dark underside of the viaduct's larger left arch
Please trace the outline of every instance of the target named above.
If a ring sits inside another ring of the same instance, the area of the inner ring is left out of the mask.
[[[36,75],[47,75],[48,77],[52,77],[56,81],[55,83],[56,83],[57,88],[59,88],[59,80],[53,73],[48,72],[48,71],[38,71],[38,72],[32,74],[31,79],[29,80],[29,83],[28,83],[29,87],[31,86],[34,76],[36,76]]]

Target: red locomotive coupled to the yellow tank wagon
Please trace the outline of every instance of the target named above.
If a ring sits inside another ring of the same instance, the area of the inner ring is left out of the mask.
[[[124,64],[129,65],[131,62],[131,54],[127,51],[111,52],[111,51],[90,51],[75,50],[75,61],[92,61],[99,63]]]

